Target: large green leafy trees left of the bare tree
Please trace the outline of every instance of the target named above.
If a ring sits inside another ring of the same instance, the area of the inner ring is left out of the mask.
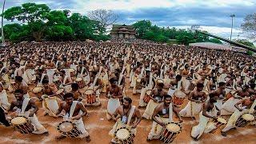
[[[51,10],[45,4],[24,3],[14,6],[4,12],[4,18],[13,22],[4,26],[6,39],[11,42],[86,40],[96,41],[109,39],[104,35],[106,29],[98,25],[99,22],[91,20],[78,13],[70,15],[70,10]],[[94,31],[99,34],[95,35]]]

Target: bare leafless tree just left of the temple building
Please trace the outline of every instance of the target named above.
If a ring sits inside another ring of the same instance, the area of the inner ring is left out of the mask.
[[[118,14],[114,14],[113,10],[92,10],[88,13],[88,17],[94,21],[98,21],[98,27],[104,28],[118,21]]]

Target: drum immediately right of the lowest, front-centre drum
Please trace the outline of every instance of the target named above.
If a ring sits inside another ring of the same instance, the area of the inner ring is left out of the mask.
[[[171,143],[181,132],[182,126],[178,122],[168,122],[166,128],[162,131],[160,140],[164,143]]]

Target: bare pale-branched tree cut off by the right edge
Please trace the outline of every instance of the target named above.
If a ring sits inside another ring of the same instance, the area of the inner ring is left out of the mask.
[[[246,37],[256,42],[256,13],[247,14],[241,27]]]

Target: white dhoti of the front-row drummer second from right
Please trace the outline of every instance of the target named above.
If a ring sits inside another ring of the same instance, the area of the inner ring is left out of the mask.
[[[210,116],[217,116],[217,112],[214,108],[213,111],[211,112],[206,112],[207,114],[209,114]],[[192,130],[191,130],[191,137],[193,138],[200,138],[202,136],[202,134],[205,133],[209,133],[211,130],[214,130],[214,128],[216,128],[216,126],[214,125],[214,122],[209,122],[210,118],[207,118],[206,116],[202,115],[202,111],[199,114],[199,123],[197,126],[193,126]]]

